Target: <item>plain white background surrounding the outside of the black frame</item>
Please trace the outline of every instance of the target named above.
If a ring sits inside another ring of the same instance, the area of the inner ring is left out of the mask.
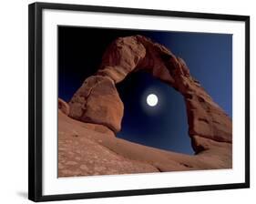
[[[2,0],[0,5],[0,203],[27,200],[27,5],[33,1]],[[251,15],[251,189],[69,200],[55,203],[255,203],[255,5],[253,0],[55,0],[56,3],[154,8]]]

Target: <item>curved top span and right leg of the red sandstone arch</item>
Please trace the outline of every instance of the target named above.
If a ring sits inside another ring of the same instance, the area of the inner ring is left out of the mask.
[[[117,83],[129,72],[148,70],[178,90],[187,106],[191,138],[197,136],[232,142],[230,117],[212,100],[200,82],[189,74],[186,63],[166,47],[144,36],[128,36],[114,41],[103,58],[97,75],[109,76]],[[199,152],[199,149],[195,150]]]

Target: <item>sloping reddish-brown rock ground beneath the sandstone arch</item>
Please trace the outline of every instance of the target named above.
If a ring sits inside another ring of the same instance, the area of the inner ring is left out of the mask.
[[[190,156],[113,136],[113,132],[102,125],[77,121],[59,110],[58,177],[232,167],[230,143],[198,137],[199,144],[214,148]]]

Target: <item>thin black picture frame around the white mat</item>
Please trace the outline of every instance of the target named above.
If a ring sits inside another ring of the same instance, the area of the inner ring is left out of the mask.
[[[187,18],[218,19],[241,21],[245,23],[245,182],[221,185],[189,186],[161,189],[132,189],[118,191],[104,191],[92,193],[77,193],[63,195],[42,195],[42,12],[44,9],[69,11],[91,11],[113,14],[130,15],[160,15]],[[250,16],[219,15],[191,12],[177,12],[167,10],[148,10],[124,7],[108,7],[93,5],[67,5],[34,3],[29,5],[29,140],[28,140],[28,199],[33,201],[91,199],[105,197],[120,197],[133,195],[175,193],[217,189],[250,188]]]

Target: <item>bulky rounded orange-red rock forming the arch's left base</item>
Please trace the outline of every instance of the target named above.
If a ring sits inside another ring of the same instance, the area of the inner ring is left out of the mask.
[[[69,102],[69,117],[104,125],[114,132],[121,128],[124,106],[112,79],[90,76]]]

